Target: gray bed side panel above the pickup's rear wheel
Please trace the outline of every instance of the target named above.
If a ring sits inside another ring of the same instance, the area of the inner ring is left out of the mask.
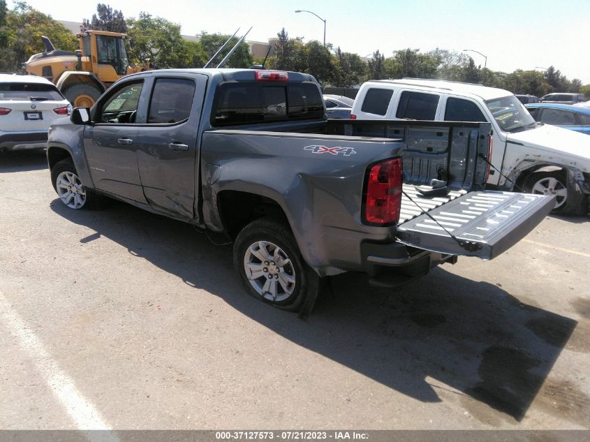
[[[337,159],[305,151],[304,146],[317,141],[302,140],[304,136],[205,133],[201,151],[205,224],[212,230],[225,230],[219,212],[224,192],[261,196],[281,208],[304,260],[318,274],[362,270],[362,240],[392,241],[394,234],[394,228],[362,224],[365,168],[399,153],[401,143],[388,140],[396,146],[392,150],[375,142],[350,140],[347,145],[354,146],[360,158]],[[323,142],[330,145],[328,139]],[[365,152],[357,147],[362,144],[367,145]]]

